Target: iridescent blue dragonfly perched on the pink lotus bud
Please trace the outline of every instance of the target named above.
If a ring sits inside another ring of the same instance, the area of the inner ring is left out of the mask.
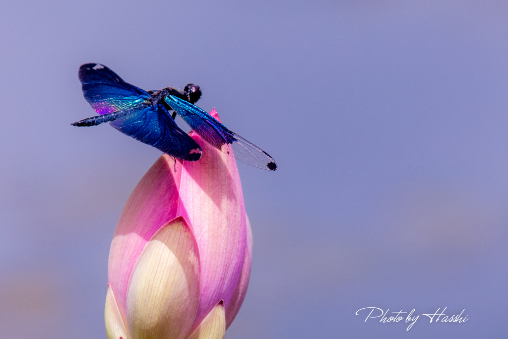
[[[275,171],[275,160],[264,150],[230,131],[220,121],[194,105],[201,97],[198,85],[183,91],[173,87],[146,91],[123,81],[102,64],[83,64],[78,72],[83,96],[99,114],[73,122],[73,126],[96,126],[103,122],[118,131],[185,160],[201,158],[201,146],[175,122],[178,114],[203,140],[241,162]],[[176,160],[175,160],[176,161]]]

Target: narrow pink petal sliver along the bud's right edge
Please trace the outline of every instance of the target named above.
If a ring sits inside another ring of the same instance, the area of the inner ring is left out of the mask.
[[[226,329],[228,329],[229,325],[231,325],[233,319],[235,319],[238,314],[249,285],[250,266],[252,263],[252,229],[250,228],[248,218],[246,218],[246,221],[247,245],[245,246],[245,256],[243,257],[242,272],[240,274],[240,279],[238,279],[238,285],[236,285],[235,293],[233,293],[233,297],[226,307]]]

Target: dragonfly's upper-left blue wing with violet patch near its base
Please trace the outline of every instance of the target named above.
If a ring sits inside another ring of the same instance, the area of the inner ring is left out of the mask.
[[[149,106],[150,94],[123,81],[101,64],[81,65],[78,72],[83,96],[100,115],[119,111],[137,111]]]

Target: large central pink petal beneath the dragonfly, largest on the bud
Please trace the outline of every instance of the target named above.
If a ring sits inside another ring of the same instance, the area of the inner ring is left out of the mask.
[[[192,225],[201,256],[201,301],[195,328],[218,301],[224,300],[228,307],[243,266],[246,222],[235,158],[198,135],[191,136],[203,148],[203,155],[197,162],[183,164],[177,215]]]

